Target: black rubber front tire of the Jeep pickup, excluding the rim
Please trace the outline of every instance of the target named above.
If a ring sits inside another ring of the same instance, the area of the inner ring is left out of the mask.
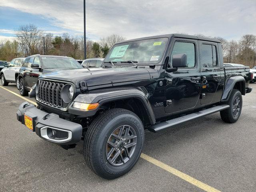
[[[121,166],[113,166],[106,157],[106,143],[112,132],[122,125],[132,126],[136,132],[137,144],[133,155]],[[144,143],[144,127],[133,112],[114,108],[100,114],[90,124],[84,139],[84,158],[98,176],[105,179],[118,178],[129,172],[138,159]]]

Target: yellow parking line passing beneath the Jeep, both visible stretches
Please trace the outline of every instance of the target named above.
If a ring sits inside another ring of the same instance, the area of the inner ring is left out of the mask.
[[[24,99],[24,100],[26,100],[26,101],[28,101],[28,102],[37,106],[36,102],[34,102],[34,101],[31,101],[31,100],[29,100],[29,99],[27,99],[23,96],[20,96],[19,94],[16,94],[16,93],[14,93],[14,92],[12,92],[12,91],[10,91],[10,90],[2,87],[2,86],[0,86],[0,88],[3,88],[4,90],[6,90],[6,91],[8,91],[8,92],[10,92],[10,93],[12,93],[12,94],[14,94],[14,95],[16,95],[16,96],[18,96],[18,97],[20,97],[20,98],[22,98],[22,99]],[[166,165],[166,164],[164,164],[164,163],[162,163],[162,162],[160,162],[160,161],[158,161],[158,160],[156,160],[156,159],[154,159],[154,158],[152,158],[152,157],[150,157],[150,156],[148,156],[144,153],[142,153],[140,155],[140,158],[142,158],[142,159],[144,159],[144,160],[146,160],[146,161],[148,161],[148,162],[150,162],[150,163],[168,171],[171,174],[174,174],[175,176],[185,180],[186,182],[189,182],[190,184],[192,184],[194,186],[197,186],[198,188],[201,188],[202,190],[205,190],[207,192],[220,192],[219,190],[217,190],[217,189],[215,189],[215,188],[213,188],[213,187],[211,187],[207,184],[204,184],[203,182],[200,182],[199,180],[197,180],[195,178],[192,178],[191,176],[189,176],[185,173],[182,173],[179,170],[176,170],[175,168],[172,168],[171,166],[168,166],[168,165]]]

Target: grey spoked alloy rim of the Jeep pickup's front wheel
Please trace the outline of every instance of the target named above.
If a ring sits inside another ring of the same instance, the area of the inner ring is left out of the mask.
[[[116,128],[106,144],[106,158],[113,166],[128,162],[136,149],[137,136],[134,128],[122,125]]]

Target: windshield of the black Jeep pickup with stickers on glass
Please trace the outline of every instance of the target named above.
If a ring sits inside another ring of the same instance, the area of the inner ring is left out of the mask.
[[[168,38],[156,38],[116,44],[108,52],[104,62],[157,64],[162,59],[167,42]]]

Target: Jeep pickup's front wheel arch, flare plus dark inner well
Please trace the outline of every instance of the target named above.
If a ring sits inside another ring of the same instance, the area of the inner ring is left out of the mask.
[[[109,108],[123,108],[134,112],[144,124],[155,124],[156,118],[147,96],[136,88],[122,88],[90,94],[80,94],[74,102],[99,103],[99,107],[91,111],[78,111],[70,105],[68,112],[82,116],[94,116],[97,112]]]

